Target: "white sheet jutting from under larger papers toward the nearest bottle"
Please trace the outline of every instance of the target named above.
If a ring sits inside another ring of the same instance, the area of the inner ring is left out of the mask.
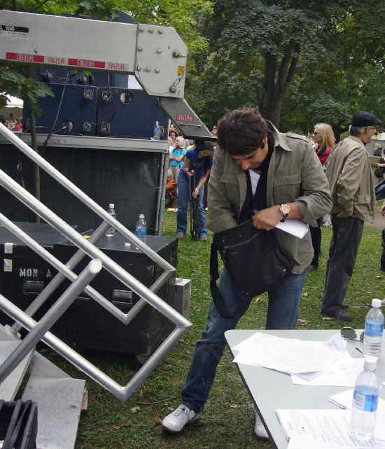
[[[325,366],[319,373],[303,373],[291,376],[295,385],[309,385],[313,387],[330,385],[334,387],[354,387],[358,374],[363,371],[363,357],[353,359],[344,354],[339,359]]]

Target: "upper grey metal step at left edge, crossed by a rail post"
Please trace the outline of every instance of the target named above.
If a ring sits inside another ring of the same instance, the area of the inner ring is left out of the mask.
[[[20,341],[0,341],[0,364],[8,358],[11,352],[18,347]],[[20,362],[18,367],[0,385],[0,399],[13,401],[28,369],[33,350]]]

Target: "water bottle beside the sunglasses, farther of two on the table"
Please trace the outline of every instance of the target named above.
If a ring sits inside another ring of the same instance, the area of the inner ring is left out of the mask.
[[[372,299],[372,308],[367,312],[365,332],[363,335],[364,355],[381,355],[382,332],[384,331],[384,315],[381,312],[381,299]]]

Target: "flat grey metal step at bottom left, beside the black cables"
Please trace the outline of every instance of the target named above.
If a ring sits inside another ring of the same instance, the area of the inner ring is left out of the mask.
[[[39,449],[73,449],[78,432],[85,380],[29,377],[22,399],[38,404]]]

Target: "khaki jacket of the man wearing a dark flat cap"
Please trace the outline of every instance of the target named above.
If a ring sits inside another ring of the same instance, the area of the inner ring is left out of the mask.
[[[339,218],[374,220],[374,182],[365,145],[358,137],[344,138],[326,162],[332,212]]]

